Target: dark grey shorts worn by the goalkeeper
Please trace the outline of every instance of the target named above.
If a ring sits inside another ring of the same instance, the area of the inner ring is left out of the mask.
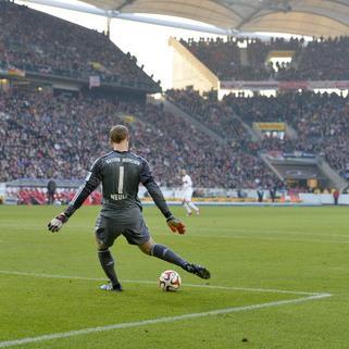
[[[96,237],[111,247],[115,239],[123,235],[130,245],[142,245],[149,241],[150,234],[139,210],[128,210],[127,215],[105,216],[102,213],[96,222]]]

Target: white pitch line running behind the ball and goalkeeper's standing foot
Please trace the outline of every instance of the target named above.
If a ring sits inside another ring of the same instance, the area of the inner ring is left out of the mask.
[[[29,273],[29,272],[18,272],[18,271],[2,271],[0,274],[7,275],[20,275],[20,276],[33,276],[33,277],[42,277],[42,278],[63,278],[63,279],[80,279],[80,281],[91,281],[91,282],[101,282],[105,281],[100,277],[85,277],[85,276],[70,276],[70,275],[55,275],[55,274],[41,274],[41,273]],[[150,281],[132,281],[132,279],[122,279],[122,283],[126,284],[148,284],[154,285],[155,282]],[[309,291],[295,291],[286,289],[275,289],[275,288],[255,288],[255,287],[229,287],[229,286],[215,286],[215,285],[200,285],[200,284],[185,284],[187,287],[198,287],[198,288],[210,288],[210,289],[226,289],[232,291],[248,291],[248,292],[265,292],[265,294],[284,294],[284,295],[299,295],[299,296],[323,296],[329,294],[320,294],[320,292],[309,292]]]

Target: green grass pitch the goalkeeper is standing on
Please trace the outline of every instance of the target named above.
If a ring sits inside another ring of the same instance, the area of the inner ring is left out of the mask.
[[[98,289],[99,209],[82,208],[59,234],[48,233],[61,210],[0,207],[0,348],[349,348],[347,208],[202,207],[191,217],[173,208],[187,224],[184,236],[145,208],[154,240],[207,265],[212,278],[147,257],[121,237],[112,251],[122,294]],[[177,292],[157,285],[166,269],[182,276]]]

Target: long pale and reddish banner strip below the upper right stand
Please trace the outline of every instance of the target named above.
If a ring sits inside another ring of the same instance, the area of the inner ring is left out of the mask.
[[[349,89],[349,80],[324,80],[324,82],[276,82],[276,80],[265,80],[265,82],[220,82],[221,89],[249,89],[249,90],[260,90],[260,89],[286,89],[286,90],[297,90],[297,89],[317,89],[317,88],[338,88],[338,89]]]

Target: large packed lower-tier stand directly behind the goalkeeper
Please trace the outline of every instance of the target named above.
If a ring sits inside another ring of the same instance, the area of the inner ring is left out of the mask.
[[[5,140],[0,147],[0,180],[83,178],[92,158],[109,150],[110,125],[125,120],[130,120],[133,150],[150,160],[164,186],[180,184],[180,167],[190,171],[198,187],[269,186],[276,180],[238,139],[222,147],[161,107],[94,97],[20,89],[0,94],[1,139]]]

